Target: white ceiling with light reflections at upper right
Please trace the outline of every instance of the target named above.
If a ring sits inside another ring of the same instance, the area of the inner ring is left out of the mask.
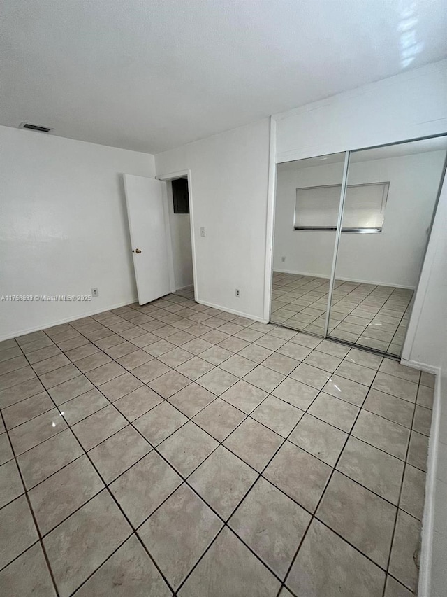
[[[446,0],[2,4],[0,124],[148,153],[447,56]]]

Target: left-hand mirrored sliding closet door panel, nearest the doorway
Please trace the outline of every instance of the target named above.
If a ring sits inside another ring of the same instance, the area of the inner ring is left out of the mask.
[[[324,335],[345,153],[277,165],[270,321]]]

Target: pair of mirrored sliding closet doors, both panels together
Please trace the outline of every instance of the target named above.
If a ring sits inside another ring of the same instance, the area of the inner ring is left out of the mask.
[[[444,135],[277,164],[270,321],[400,356],[446,155]]]

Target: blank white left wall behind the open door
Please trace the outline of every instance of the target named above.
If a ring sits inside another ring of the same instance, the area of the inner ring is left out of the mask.
[[[122,174],[154,176],[154,156],[0,127],[1,295],[91,302],[1,302],[0,338],[136,297]]]

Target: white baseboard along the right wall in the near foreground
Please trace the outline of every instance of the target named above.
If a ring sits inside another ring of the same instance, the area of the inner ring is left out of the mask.
[[[430,597],[432,577],[432,545],[434,535],[434,494],[439,443],[439,423],[441,419],[441,372],[437,370],[434,384],[432,426],[428,442],[427,477],[425,479],[425,505],[420,541],[420,566],[418,596]]]

